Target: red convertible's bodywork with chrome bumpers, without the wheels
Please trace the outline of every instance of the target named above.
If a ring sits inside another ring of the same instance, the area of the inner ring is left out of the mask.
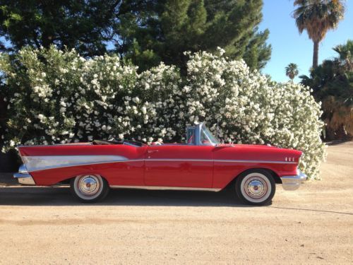
[[[202,126],[189,129],[197,136]],[[297,169],[301,151],[201,143],[197,137],[196,143],[192,136],[188,139],[184,144],[162,145],[124,142],[19,146],[25,167],[15,177],[23,184],[50,186],[79,175],[100,175],[111,188],[210,191],[224,189],[242,172],[251,169],[268,170],[285,189],[297,189],[304,180]]]

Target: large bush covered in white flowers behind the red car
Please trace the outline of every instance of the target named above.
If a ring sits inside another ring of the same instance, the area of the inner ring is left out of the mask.
[[[3,151],[112,137],[180,141],[186,125],[206,122],[215,131],[218,120],[225,141],[304,151],[301,170],[317,177],[323,122],[309,89],[270,83],[222,54],[189,54],[185,76],[175,66],[138,73],[115,55],[84,59],[54,47],[2,54],[9,117]]]

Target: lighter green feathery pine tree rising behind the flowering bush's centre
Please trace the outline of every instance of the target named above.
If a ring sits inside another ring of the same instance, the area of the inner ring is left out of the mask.
[[[186,69],[185,51],[215,52],[217,47],[224,48],[229,58],[243,58],[251,69],[261,69],[271,54],[271,47],[266,44],[268,30],[259,32],[257,28],[262,6],[262,0],[151,3],[149,16],[129,15],[121,23],[126,33],[121,40],[131,45],[118,50],[141,70],[160,61]]]

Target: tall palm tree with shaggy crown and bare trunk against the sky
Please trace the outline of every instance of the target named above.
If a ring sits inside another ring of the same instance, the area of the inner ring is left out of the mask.
[[[323,40],[328,30],[337,27],[343,18],[345,5],[341,0],[294,0],[295,23],[299,33],[307,31],[313,40],[313,68],[318,66],[318,44]]]

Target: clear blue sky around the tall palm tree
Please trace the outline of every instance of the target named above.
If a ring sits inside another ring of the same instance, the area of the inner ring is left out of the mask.
[[[272,45],[270,61],[262,70],[278,82],[288,81],[285,75],[285,66],[289,63],[298,65],[299,76],[309,75],[313,64],[313,42],[304,31],[299,35],[295,20],[292,18],[294,10],[293,0],[264,0],[263,21],[260,30],[268,28],[270,36],[268,43]],[[324,59],[335,57],[333,47],[353,40],[353,0],[345,1],[345,18],[340,21],[335,30],[330,30],[321,42],[318,51],[319,64]],[[299,82],[300,78],[294,81]]]

